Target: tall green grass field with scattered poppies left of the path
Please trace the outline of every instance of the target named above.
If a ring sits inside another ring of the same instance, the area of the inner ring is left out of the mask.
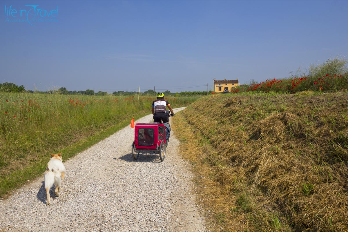
[[[172,97],[168,101],[173,107],[180,107],[197,98]],[[154,99],[0,93],[0,196],[42,174],[49,153],[74,147],[113,128],[103,135],[108,136],[129,124],[133,117],[150,114]],[[74,152],[65,152],[63,159],[72,155]]]

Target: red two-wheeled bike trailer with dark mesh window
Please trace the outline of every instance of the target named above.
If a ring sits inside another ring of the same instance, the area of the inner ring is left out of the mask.
[[[132,156],[136,160],[140,152],[158,154],[161,161],[166,156],[166,131],[163,124],[136,123]]]

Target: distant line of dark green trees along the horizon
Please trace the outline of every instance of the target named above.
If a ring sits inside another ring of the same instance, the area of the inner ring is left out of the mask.
[[[93,89],[79,90],[79,91],[69,91],[65,87],[61,87],[57,90],[47,90],[47,91],[38,91],[38,90],[25,90],[24,86],[17,86],[11,82],[0,83],[0,92],[13,92],[13,93],[40,93],[40,94],[64,94],[64,95],[96,95],[96,96],[105,96],[110,95],[105,91],[95,92]],[[212,91],[208,91],[210,94]],[[171,93],[171,91],[166,90],[162,92],[164,96],[168,97],[190,97],[197,95],[206,95],[206,91],[182,91],[180,93]],[[138,94],[137,91],[114,91],[112,95],[114,96],[132,96]],[[144,92],[140,92],[142,96],[156,96],[157,92],[152,89],[149,89]]]

